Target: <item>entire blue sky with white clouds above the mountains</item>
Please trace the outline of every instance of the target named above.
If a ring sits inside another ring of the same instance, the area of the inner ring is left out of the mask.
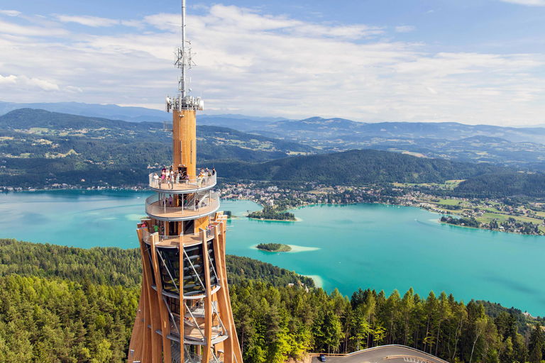
[[[0,101],[164,108],[180,0],[2,0]],[[205,113],[545,124],[545,0],[188,0]]]

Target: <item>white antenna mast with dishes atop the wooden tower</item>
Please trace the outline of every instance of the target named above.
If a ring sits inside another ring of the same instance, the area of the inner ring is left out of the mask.
[[[182,69],[182,74],[178,78],[178,92],[179,94],[174,99],[167,96],[167,112],[171,110],[202,110],[204,108],[204,101],[200,97],[193,97],[188,95],[187,90],[187,69],[191,69],[195,64],[192,60],[191,43],[186,40],[185,35],[185,0],[182,0],[182,45],[176,49],[174,65],[177,68]],[[189,89],[190,91],[190,89]]]

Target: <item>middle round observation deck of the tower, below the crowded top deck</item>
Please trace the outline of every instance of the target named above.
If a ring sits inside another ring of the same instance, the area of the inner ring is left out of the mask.
[[[207,193],[205,196],[196,196],[190,201],[182,201],[181,206],[171,206],[170,199],[162,198],[159,194],[145,199],[145,213],[148,216],[169,222],[209,216],[218,209],[219,194],[217,192]]]

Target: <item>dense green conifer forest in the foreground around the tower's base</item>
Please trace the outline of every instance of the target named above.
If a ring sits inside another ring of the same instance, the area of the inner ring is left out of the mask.
[[[123,362],[140,291],[138,254],[0,240],[0,362]],[[245,257],[229,256],[228,269],[248,363],[393,343],[449,362],[543,359],[544,320],[514,308],[412,289],[360,289],[348,298]]]

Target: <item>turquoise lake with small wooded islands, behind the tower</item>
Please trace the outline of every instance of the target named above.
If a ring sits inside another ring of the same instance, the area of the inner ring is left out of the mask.
[[[0,194],[0,238],[75,247],[138,247],[136,221],[148,192],[37,191]],[[232,211],[227,252],[314,277],[327,291],[409,287],[427,296],[501,303],[545,315],[545,237],[477,230],[437,222],[419,208],[356,204],[309,206],[300,222],[248,220],[250,201],[223,201]],[[294,252],[256,250],[260,242]]]

